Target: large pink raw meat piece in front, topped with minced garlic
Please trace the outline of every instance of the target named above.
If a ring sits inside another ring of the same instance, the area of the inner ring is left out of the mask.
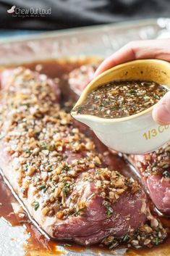
[[[113,247],[166,237],[145,192],[107,165],[106,154],[59,106],[59,86],[22,67],[1,73],[1,168],[48,236]]]

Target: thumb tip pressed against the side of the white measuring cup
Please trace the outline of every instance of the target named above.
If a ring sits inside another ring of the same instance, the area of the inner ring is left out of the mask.
[[[170,124],[170,91],[153,108],[153,120],[160,125]]]

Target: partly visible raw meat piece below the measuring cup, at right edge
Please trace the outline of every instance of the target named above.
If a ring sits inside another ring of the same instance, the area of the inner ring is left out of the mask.
[[[129,161],[139,171],[154,205],[164,214],[170,215],[169,144],[150,154],[129,156]]]

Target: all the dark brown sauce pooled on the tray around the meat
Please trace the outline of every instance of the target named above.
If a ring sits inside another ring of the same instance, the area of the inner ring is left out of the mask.
[[[72,102],[75,102],[76,96],[69,90],[67,83],[63,78],[64,74],[67,74],[71,70],[75,69],[76,67],[80,67],[80,65],[92,62],[91,59],[85,61],[78,61],[78,62],[68,62],[68,61],[54,61],[48,60],[46,62],[41,62],[41,70],[40,73],[45,73],[51,78],[61,78],[61,91],[64,92],[64,100],[67,100],[67,96],[69,95],[69,99]],[[31,70],[35,70],[37,65],[40,62],[35,62],[31,64],[25,65],[25,67],[30,68]],[[72,103],[70,103],[72,104]],[[93,136],[91,132],[88,132],[89,136]],[[98,146],[98,140],[93,137],[96,146]],[[129,166],[122,160],[121,157],[113,155],[114,158],[114,168],[117,170],[122,170],[124,175],[129,174]],[[43,236],[40,231],[33,226],[33,223],[27,218],[27,214],[24,210],[21,210],[19,214],[14,214],[12,208],[12,202],[17,202],[17,200],[12,195],[12,192],[9,190],[7,185],[4,183],[3,179],[0,176],[0,217],[12,226],[25,226],[25,232],[30,234],[30,238],[27,240],[27,244],[25,245],[25,256],[48,256],[48,255],[64,255],[64,250],[57,249],[57,246],[63,245],[66,249],[69,249],[72,252],[79,252],[81,253],[85,250],[85,247],[79,246],[77,244],[67,243],[67,242],[56,242],[47,239]],[[170,227],[170,220],[169,218],[161,218],[164,226]],[[90,247],[90,249],[98,255],[100,252],[107,252],[108,249],[104,247],[100,247],[95,245]],[[116,248],[117,249],[117,248]],[[169,256],[170,255],[170,237],[164,241],[163,244],[159,245],[158,247],[154,247],[152,249],[128,249],[126,256],[140,256],[140,255],[147,255],[147,256]]]

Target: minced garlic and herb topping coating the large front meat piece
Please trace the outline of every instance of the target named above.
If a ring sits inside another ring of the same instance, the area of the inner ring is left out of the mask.
[[[19,67],[0,96],[1,145],[9,161],[20,160],[16,170],[22,197],[27,197],[33,186],[33,209],[65,219],[85,214],[88,201],[98,194],[110,218],[111,204],[127,189],[140,192],[140,186],[132,178],[106,168],[93,141],[59,107],[51,83],[45,75]],[[87,200],[81,197],[81,189],[89,182],[93,191]],[[110,240],[103,243],[113,247],[114,237]]]

